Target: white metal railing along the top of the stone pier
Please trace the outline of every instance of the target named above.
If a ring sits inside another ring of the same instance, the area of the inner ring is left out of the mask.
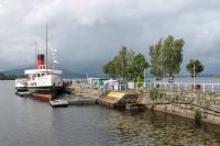
[[[147,88],[158,88],[162,90],[175,91],[201,91],[201,92],[220,92],[220,83],[196,83],[193,82],[135,82],[132,88],[128,85],[119,85],[119,90],[140,90]]]

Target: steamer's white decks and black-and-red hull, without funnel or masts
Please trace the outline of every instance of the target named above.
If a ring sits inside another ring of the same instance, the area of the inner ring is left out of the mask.
[[[58,70],[61,72],[61,70]],[[63,92],[63,80],[57,70],[50,69],[48,75],[43,69],[25,70],[30,75],[26,79],[16,79],[15,88],[18,91],[29,91],[37,99],[53,100]]]

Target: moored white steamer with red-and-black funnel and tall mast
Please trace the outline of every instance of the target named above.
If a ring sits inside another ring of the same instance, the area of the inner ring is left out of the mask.
[[[53,52],[54,54],[55,52]],[[46,61],[44,58],[46,58]],[[54,56],[53,59],[54,64],[56,64]],[[51,101],[64,90],[63,79],[59,77],[61,74],[62,70],[50,68],[48,66],[46,35],[46,55],[43,53],[36,54],[35,69],[24,70],[24,75],[28,78],[16,79],[15,89],[18,91],[29,91],[35,99]]]

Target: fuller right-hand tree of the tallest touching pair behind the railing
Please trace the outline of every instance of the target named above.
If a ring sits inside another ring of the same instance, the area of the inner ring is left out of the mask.
[[[164,40],[161,50],[161,61],[165,77],[174,77],[180,71],[184,44],[184,40],[175,40],[172,35],[168,35]]]

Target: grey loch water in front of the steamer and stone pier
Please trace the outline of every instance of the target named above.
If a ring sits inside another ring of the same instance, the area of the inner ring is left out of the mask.
[[[162,112],[52,108],[0,81],[0,146],[219,146],[220,126]]]

